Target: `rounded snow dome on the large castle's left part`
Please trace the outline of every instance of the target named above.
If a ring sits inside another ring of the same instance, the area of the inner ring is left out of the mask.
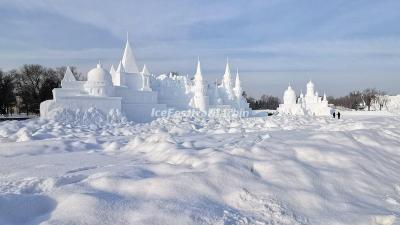
[[[85,90],[94,96],[112,96],[113,83],[111,74],[105,70],[101,64],[97,64],[96,68],[91,69],[87,75]]]

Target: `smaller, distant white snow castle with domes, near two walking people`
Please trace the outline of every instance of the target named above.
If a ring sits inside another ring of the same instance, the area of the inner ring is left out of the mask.
[[[289,84],[289,87],[283,94],[283,104],[279,105],[278,112],[290,115],[330,115],[331,108],[328,106],[326,94],[323,97],[314,92],[314,83],[310,80],[307,83],[307,92],[304,96],[303,92],[300,97],[296,97],[295,91]]]

